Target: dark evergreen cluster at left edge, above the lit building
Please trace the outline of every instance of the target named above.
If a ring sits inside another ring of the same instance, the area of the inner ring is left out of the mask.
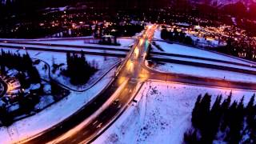
[[[0,54],[0,67],[3,74],[6,73],[5,66],[18,71],[27,72],[31,83],[41,82],[38,70],[33,66],[33,62],[29,54],[14,54],[10,51],[6,52],[2,50]],[[26,83],[25,77],[26,76],[23,73],[18,74],[21,84]]]

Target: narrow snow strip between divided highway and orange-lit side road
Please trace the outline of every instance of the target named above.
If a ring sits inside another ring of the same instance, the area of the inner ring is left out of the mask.
[[[174,74],[187,74],[197,77],[226,79],[235,82],[256,82],[256,76],[225,70],[215,70],[196,66],[186,66],[174,63],[162,63],[153,66],[154,70]]]

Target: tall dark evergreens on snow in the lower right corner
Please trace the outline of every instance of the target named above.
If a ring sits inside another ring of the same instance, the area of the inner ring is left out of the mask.
[[[244,97],[231,102],[232,94],[222,102],[219,95],[213,106],[211,96],[198,96],[192,111],[192,127],[184,134],[184,143],[256,143],[255,94],[247,106]]]

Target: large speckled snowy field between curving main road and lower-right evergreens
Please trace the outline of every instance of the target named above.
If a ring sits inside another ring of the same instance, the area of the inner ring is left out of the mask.
[[[191,112],[199,94],[211,94],[212,104],[218,94],[226,98],[230,89],[189,86],[178,83],[146,82],[138,93],[141,100],[128,110],[98,139],[97,143],[182,143],[190,128]],[[253,91],[232,90],[232,100],[245,96],[245,104]]]

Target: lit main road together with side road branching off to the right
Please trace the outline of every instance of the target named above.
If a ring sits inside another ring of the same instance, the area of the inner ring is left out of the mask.
[[[97,138],[102,131],[118,118],[120,114],[137,93],[136,86],[139,82],[146,82],[148,79],[157,79],[168,82],[181,82],[197,86],[215,86],[233,89],[256,90],[255,83],[229,82],[214,78],[200,78],[185,74],[160,73],[145,65],[145,58],[148,54],[148,46],[154,36],[157,26],[149,26],[142,38],[132,47],[126,55],[125,61],[119,67],[117,76],[106,89],[102,91],[92,102],[87,104],[78,113],[64,122],[54,126],[46,133],[31,139],[26,143],[88,143]],[[120,86],[122,90],[120,89]],[[117,93],[118,90],[118,93]],[[114,97],[114,98],[113,98]],[[107,102],[109,102],[107,104]],[[102,106],[106,106],[102,109]],[[92,115],[97,116],[91,118]],[[88,121],[88,122],[87,122]],[[82,122],[84,126],[77,127]]]

